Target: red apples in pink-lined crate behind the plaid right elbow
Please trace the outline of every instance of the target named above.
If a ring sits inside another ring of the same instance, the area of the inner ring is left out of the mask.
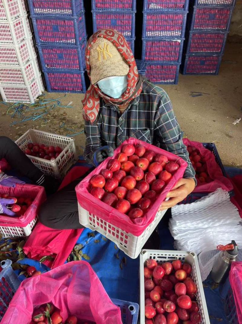
[[[196,172],[195,178],[197,179],[197,184],[199,185],[205,182],[213,181],[213,179],[209,177],[209,174],[207,172],[205,157],[200,155],[199,150],[197,150],[194,146],[188,146],[187,151],[189,153],[190,161]]]

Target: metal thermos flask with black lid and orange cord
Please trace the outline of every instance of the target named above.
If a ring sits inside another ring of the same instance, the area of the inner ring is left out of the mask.
[[[234,245],[233,249],[220,251],[216,260],[214,261],[214,266],[210,272],[211,279],[220,283],[226,280],[231,262],[236,261],[238,255],[238,247],[235,241],[231,241],[231,244]]]

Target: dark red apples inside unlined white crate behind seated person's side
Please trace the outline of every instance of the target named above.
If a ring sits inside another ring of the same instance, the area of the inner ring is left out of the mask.
[[[28,143],[27,148],[24,151],[25,154],[41,157],[45,160],[55,159],[63,149],[59,146],[54,147],[53,145],[46,146],[45,144]]]

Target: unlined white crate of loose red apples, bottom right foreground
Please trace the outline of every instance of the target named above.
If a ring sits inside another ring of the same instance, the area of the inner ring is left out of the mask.
[[[209,323],[195,253],[142,250],[140,281],[142,323]]]

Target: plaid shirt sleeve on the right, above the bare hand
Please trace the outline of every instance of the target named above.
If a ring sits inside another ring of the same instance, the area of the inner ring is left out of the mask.
[[[189,153],[182,140],[182,132],[174,115],[171,100],[164,92],[158,102],[154,116],[154,142],[159,142],[160,147],[166,151],[183,158],[188,166],[184,178],[193,178],[195,183],[195,170],[189,159]]]

